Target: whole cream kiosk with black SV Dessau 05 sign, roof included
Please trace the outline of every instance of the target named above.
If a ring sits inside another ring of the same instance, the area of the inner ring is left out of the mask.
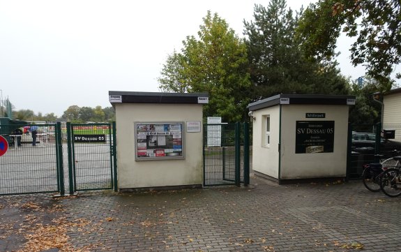
[[[248,105],[252,170],[278,181],[344,178],[355,96],[280,94]]]

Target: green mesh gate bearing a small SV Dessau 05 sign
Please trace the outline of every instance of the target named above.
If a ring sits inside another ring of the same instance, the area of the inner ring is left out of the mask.
[[[67,124],[70,194],[114,188],[112,129],[112,124]]]

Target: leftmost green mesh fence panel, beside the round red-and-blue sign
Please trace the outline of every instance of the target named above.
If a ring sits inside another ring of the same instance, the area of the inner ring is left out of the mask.
[[[4,126],[4,125],[2,125]],[[56,124],[37,125],[37,142],[33,146],[33,125],[15,125],[3,132],[8,151],[0,156],[0,195],[59,192],[62,169],[57,158]],[[15,131],[20,129],[20,132]]]

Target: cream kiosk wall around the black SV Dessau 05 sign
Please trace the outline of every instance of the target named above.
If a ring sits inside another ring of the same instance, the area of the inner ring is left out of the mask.
[[[305,113],[325,113],[326,118],[305,118]],[[345,177],[347,170],[347,105],[282,105],[281,179]],[[332,153],[296,154],[296,121],[335,121]]]

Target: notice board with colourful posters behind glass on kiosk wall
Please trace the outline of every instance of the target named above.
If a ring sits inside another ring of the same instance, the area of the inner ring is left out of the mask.
[[[135,123],[137,160],[183,158],[183,123]]]

